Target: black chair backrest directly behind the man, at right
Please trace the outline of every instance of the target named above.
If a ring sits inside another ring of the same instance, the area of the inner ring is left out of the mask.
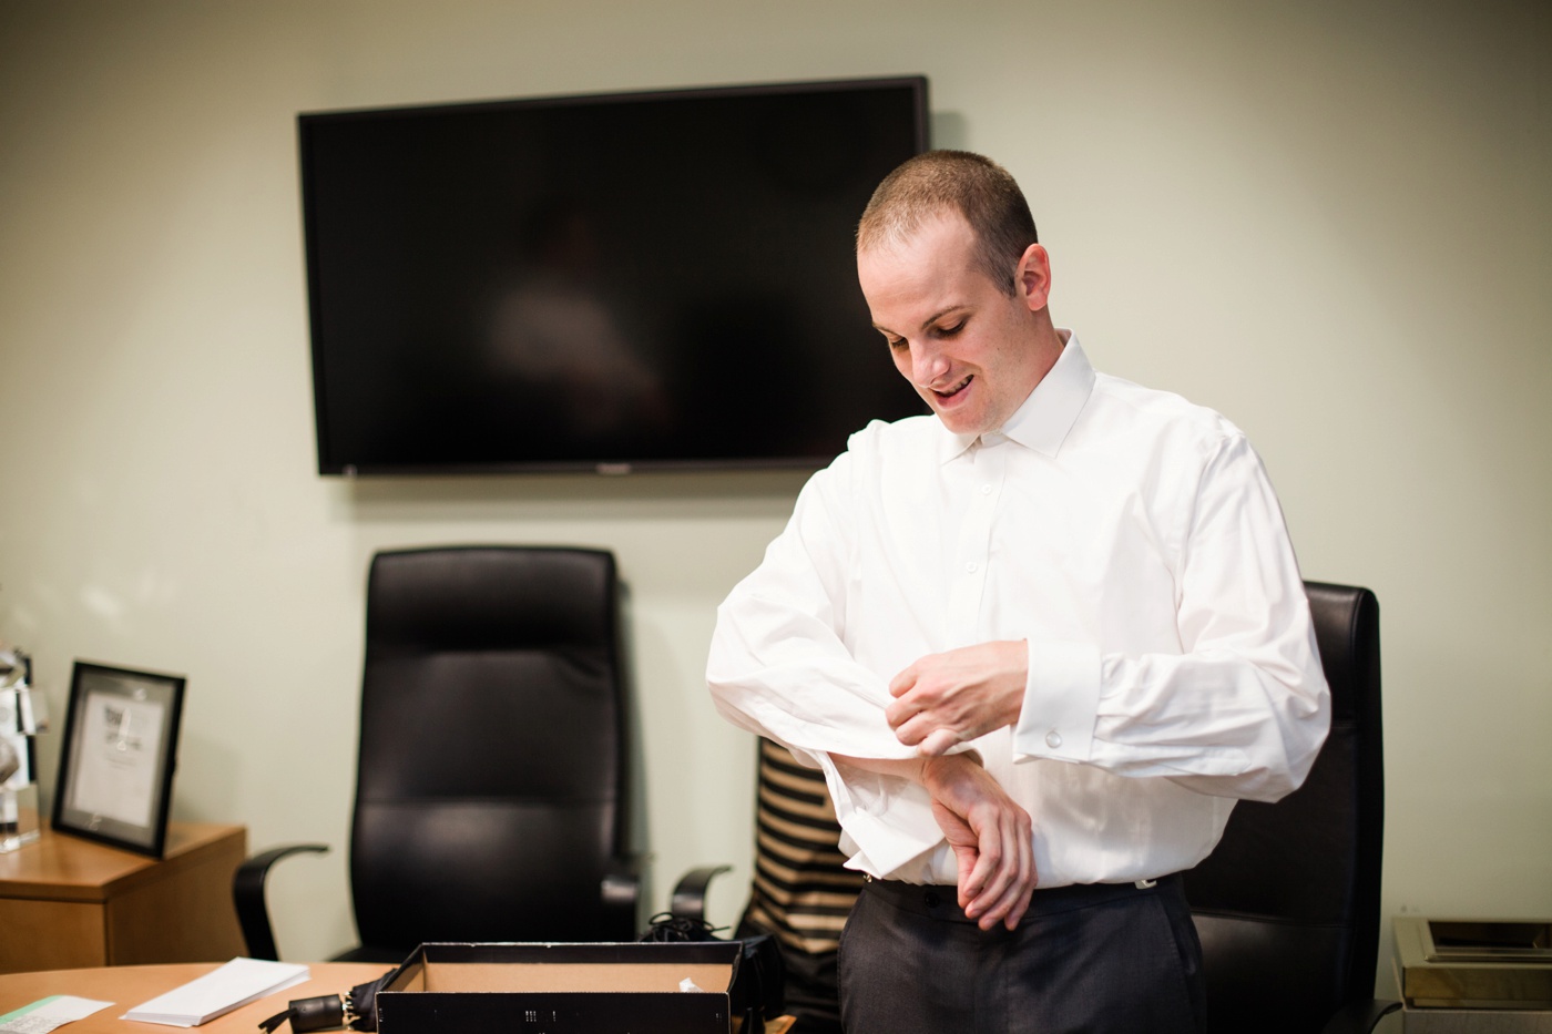
[[[1305,582],[1332,731],[1308,779],[1276,804],[1240,801],[1186,873],[1201,935],[1207,1029],[1304,1034],[1372,998],[1380,942],[1384,762],[1380,604]]]

